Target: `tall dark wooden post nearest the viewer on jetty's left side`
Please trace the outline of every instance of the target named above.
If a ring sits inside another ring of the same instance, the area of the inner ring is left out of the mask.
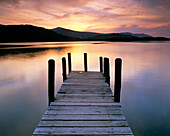
[[[48,61],[48,105],[54,102],[54,81],[55,81],[55,61],[50,59]]]

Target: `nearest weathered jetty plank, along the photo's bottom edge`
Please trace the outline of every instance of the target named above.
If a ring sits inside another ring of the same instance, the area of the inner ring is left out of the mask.
[[[129,127],[37,127],[34,134],[133,134]]]

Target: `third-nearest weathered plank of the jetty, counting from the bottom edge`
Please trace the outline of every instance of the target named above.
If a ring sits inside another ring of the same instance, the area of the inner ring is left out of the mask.
[[[99,114],[56,114],[56,115],[44,115],[42,117],[42,120],[53,120],[53,121],[114,121],[114,120],[121,120],[125,121],[124,115],[112,115],[112,114],[106,114],[106,115],[99,115]]]

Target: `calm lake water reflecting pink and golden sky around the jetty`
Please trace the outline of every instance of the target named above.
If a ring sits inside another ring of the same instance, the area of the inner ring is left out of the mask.
[[[33,133],[48,104],[47,61],[56,60],[57,92],[62,83],[61,58],[68,52],[72,53],[73,70],[83,70],[84,52],[88,53],[89,70],[99,70],[99,56],[109,57],[112,89],[114,59],[121,57],[121,103],[132,131],[136,136],[170,135],[170,42],[17,43],[5,44],[6,49],[2,45],[0,135]]]

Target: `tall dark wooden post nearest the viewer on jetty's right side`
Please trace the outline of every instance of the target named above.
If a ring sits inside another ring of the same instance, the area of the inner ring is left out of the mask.
[[[115,86],[114,86],[114,101],[115,102],[120,102],[121,69],[122,69],[122,59],[116,58],[115,60]]]

